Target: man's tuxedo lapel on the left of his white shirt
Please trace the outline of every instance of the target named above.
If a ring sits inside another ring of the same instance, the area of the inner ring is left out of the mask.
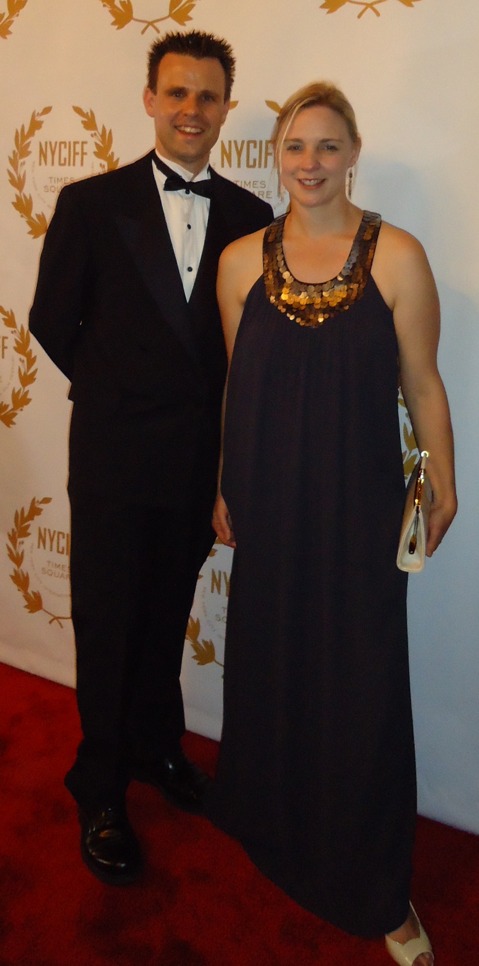
[[[186,352],[199,362],[178,263],[152,170],[151,156],[138,165],[136,197],[116,215],[118,228],[164,321]]]

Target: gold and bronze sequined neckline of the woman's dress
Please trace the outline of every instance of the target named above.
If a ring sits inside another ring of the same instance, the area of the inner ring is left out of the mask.
[[[272,305],[299,326],[322,326],[362,296],[373,264],[380,232],[380,214],[364,212],[342,271],[327,282],[306,285],[288,269],[283,251],[287,214],[270,224],[263,241],[263,275]]]

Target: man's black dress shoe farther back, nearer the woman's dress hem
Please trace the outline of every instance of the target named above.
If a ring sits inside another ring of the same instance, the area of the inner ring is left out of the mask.
[[[178,752],[157,761],[135,762],[131,778],[151,784],[172,805],[195,815],[203,814],[203,797],[211,778]]]

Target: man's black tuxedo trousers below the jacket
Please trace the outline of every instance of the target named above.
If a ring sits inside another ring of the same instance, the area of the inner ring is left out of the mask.
[[[193,499],[184,512],[69,489],[83,740],[66,784],[96,809],[123,804],[129,761],[178,749],[184,636],[214,534]]]

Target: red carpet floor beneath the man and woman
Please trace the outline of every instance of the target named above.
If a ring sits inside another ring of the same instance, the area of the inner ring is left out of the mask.
[[[83,866],[63,776],[79,729],[69,688],[0,665],[0,966],[386,966],[272,886],[239,845],[146,785],[128,792],[144,879]],[[185,750],[212,773],[216,745]],[[437,966],[479,962],[479,838],[419,819],[412,900]]]

